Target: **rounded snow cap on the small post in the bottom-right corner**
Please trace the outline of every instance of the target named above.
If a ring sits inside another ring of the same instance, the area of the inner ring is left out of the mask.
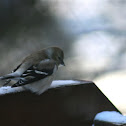
[[[103,111],[98,113],[94,120],[109,122],[116,125],[126,124],[126,116],[116,111]]]

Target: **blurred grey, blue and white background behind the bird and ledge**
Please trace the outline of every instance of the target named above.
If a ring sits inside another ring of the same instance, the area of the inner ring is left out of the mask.
[[[56,79],[108,84],[106,91],[124,98],[125,7],[125,0],[0,0],[0,75],[32,52],[59,46],[66,67]]]

